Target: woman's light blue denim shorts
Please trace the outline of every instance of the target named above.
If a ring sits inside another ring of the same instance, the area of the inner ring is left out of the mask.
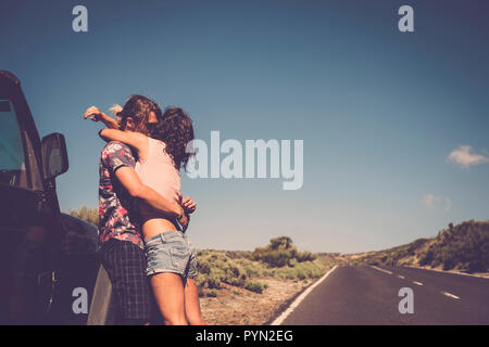
[[[173,272],[183,279],[197,277],[196,248],[180,231],[165,231],[148,239],[145,252],[147,275]]]

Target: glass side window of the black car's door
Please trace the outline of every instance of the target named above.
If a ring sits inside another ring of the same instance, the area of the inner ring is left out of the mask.
[[[5,99],[0,99],[0,183],[27,188],[21,128],[12,102]]]

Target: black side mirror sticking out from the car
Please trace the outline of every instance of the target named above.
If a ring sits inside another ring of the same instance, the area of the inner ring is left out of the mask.
[[[43,137],[41,153],[45,180],[53,179],[67,171],[67,151],[63,134],[54,132]]]

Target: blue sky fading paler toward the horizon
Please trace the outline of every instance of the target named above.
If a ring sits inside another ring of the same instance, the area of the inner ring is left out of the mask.
[[[72,30],[76,4],[88,33]],[[403,4],[414,33],[398,30]],[[487,10],[474,0],[8,0],[0,68],[22,80],[40,134],[66,137],[64,210],[98,206],[103,142],[84,111],[142,93],[187,110],[205,141],[212,130],[304,141],[298,191],[281,179],[184,175],[198,247],[289,235],[301,249],[373,250],[489,218]]]

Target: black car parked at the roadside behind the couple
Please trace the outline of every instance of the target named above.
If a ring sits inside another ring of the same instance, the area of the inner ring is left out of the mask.
[[[60,211],[67,169],[64,137],[39,138],[20,80],[0,70],[0,324],[108,322],[97,228]]]

